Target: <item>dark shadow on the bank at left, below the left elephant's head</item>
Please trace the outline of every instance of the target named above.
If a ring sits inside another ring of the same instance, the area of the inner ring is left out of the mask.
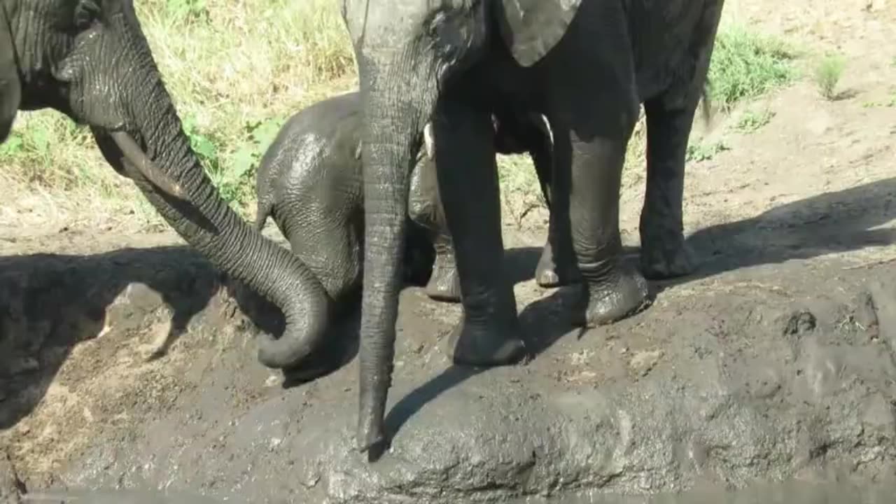
[[[76,344],[109,329],[130,336],[151,317],[170,317],[143,355],[159,358],[223,281],[184,246],[0,257],[0,430],[34,410]]]

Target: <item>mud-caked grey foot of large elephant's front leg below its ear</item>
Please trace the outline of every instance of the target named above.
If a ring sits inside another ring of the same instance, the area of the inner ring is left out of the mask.
[[[621,263],[582,287],[587,290],[588,307],[581,325],[588,327],[612,324],[642,311],[651,303],[647,280],[640,272]]]

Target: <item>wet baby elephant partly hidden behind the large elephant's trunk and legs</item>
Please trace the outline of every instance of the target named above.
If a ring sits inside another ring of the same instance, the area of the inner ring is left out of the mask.
[[[322,100],[299,111],[264,153],[256,180],[256,227],[261,230],[271,216],[293,253],[317,276],[337,305],[357,295],[362,281],[360,114],[358,92]],[[418,279],[428,274],[427,295],[457,302],[461,299],[460,283],[438,197],[429,131],[427,125],[425,148],[411,175],[404,273],[405,278]],[[530,152],[548,203],[551,146],[547,123],[540,115],[495,118],[496,151]],[[554,268],[550,247],[546,246],[538,263],[538,282],[555,285]]]

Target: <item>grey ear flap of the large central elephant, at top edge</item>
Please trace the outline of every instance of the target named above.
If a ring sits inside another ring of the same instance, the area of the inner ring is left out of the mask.
[[[513,59],[531,66],[563,38],[582,0],[501,0],[498,25]]]

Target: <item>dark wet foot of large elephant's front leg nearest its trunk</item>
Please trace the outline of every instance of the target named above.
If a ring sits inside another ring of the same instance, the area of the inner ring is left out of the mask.
[[[512,365],[529,354],[520,335],[518,324],[473,324],[465,319],[448,336],[449,357],[460,366],[492,368]]]

